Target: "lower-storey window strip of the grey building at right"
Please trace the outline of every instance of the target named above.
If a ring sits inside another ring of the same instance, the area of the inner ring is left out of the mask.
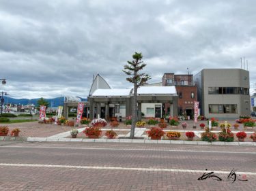
[[[209,114],[237,114],[238,105],[236,104],[210,104],[209,105]]]

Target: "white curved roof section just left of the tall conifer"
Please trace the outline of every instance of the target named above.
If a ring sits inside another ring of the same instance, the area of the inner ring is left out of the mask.
[[[131,89],[98,89],[92,97],[130,97]]]

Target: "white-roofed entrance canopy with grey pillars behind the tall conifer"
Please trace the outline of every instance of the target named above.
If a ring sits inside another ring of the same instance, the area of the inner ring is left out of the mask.
[[[89,96],[90,118],[104,116],[105,118],[131,115],[133,89],[97,89]],[[175,86],[143,86],[137,90],[138,118],[141,118],[141,104],[169,103],[173,116],[177,115],[177,91]],[[111,107],[115,105],[115,107]],[[111,109],[115,108],[115,110]],[[122,111],[124,109],[124,111]],[[113,110],[113,111],[112,111]]]

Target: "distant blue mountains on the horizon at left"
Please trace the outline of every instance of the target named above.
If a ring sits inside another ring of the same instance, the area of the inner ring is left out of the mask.
[[[12,103],[12,104],[18,104],[18,105],[28,105],[28,104],[33,104],[37,105],[38,104],[38,99],[14,99],[12,97],[3,97],[4,98],[4,103]],[[81,101],[87,101],[87,99],[79,97]],[[56,97],[53,99],[45,99],[49,103],[49,107],[58,107],[59,105],[63,105],[65,97]]]

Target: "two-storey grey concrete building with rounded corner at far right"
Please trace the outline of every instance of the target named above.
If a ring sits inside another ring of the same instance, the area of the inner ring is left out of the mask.
[[[194,77],[201,115],[206,118],[238,118],[250,115],[249,71],[203,69]]]

